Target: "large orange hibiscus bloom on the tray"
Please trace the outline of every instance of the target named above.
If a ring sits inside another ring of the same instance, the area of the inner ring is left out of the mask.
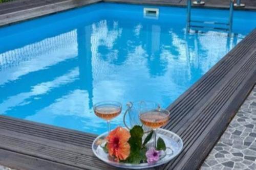
[[[117,127],[106,137],[108,143],[106,148],[110,156],[118,160],[125,160],[130,155],[130,144],[127,142],[131,137],[130,132],[124,128]]]

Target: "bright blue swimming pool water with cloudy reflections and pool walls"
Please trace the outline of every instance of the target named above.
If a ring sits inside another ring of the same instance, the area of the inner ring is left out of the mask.
[[[1,28],[0,114],[100,134],[93,104],[167,107],[256,27],[256,12],[236,11],[231,37],[186,34],[185,8],[151,7],[159,17],[147,18],[144,7],[101,3]],[[192,15],[228,19],[225,10]]]

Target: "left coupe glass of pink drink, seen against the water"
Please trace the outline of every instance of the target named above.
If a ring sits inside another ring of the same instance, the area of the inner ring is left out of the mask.
[[[93,106],[93,110],[98,117],[106,120],[108,123],[108,131],[110,133],[110,120],[121,113],[122,104],[115,101],[99,102]]]

